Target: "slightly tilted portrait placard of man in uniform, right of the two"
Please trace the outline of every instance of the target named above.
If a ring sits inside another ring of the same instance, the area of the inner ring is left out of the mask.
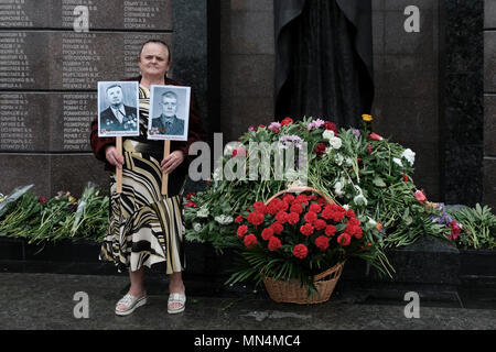
[[[163,141],[187,141],[191,87],[150,87],[148,138]]]

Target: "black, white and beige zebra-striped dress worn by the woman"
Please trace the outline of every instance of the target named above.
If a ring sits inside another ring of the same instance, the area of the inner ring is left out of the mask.
[[[119,272],[166,264],[166,274],[185,267],[183,249],[182,183],[176,196],[161,195],[163,141],[147,140],[150,91],[140,85],[140,135],[123,138],[122,194],[110,176],[110,218],[100,260]],[[173,173],[170,175],[173,176]]]

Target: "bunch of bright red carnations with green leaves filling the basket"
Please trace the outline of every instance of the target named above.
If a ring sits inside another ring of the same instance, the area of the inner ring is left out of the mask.
[[[284,193],[255,202],[236,220],[241,261],[228,283],[263,276],[299,279],[311,289],[313,276],[348,256],[370,254],[360,221],[352,209],[313,193]]]

